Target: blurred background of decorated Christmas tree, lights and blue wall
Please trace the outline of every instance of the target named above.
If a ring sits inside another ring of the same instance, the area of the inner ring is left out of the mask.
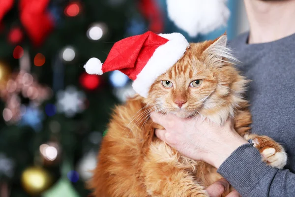
[[[233,39],[248,23],[242,0],[227,6],[226,26],[190,37],[166,0],[0,0],[0,197],[89,196],[111,110],[134,92],[121,72],[88,75],[83,65],[148,30]]]

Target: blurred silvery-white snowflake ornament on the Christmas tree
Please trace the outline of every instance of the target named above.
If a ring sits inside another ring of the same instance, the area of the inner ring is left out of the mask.
[[[82,91],[77,91],[74,86],[68,86],[64,91],[59,91],[57,99],[58,111],[67,117],[73,117],[85,109],[85,94]]]

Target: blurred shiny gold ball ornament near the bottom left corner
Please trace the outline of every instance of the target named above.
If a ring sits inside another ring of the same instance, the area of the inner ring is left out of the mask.
[[[29,167],[22,173],[22,185],[30,195],[39,195],[52,185],[51,175],[41,167]]]

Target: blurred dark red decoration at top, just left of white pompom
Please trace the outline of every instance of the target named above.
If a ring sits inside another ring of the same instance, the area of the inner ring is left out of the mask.
[[[139,9],[149,21],[148,30],[161,33],[164,30],[164,18],[156,0],[140,0]]]

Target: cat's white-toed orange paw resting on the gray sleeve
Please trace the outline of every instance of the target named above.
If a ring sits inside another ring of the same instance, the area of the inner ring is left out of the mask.
[[[267,165],[282,169],[287,164],[287,154],[284,148],[270,137],[257,136],[252,142]]]

